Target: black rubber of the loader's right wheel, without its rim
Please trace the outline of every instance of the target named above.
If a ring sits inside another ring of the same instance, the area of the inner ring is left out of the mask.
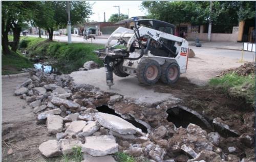
[[[177,70],[177,75],[174,76],[174,78],[169,77],[169,70],[173,68]],[[174,84],[177,82],[177,80],[180,78],[180,67],[177,63],[168,63],[165,62],[162,67],[162,74],[161,74],[161,81],[165,84]]]

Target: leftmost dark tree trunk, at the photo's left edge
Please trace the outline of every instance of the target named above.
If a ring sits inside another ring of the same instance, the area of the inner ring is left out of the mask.
[[[11,53],[10,49],[9,49],[9,40],[8,40],[8,33],[11,29],[10,26],[10,21],[7,20],[7,22],[5,23],[5,19],[2,18],[2,48],[3,48],[3,54],[4,55],[9,55]]]

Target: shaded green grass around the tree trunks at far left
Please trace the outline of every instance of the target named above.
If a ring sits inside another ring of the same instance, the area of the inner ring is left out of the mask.
[[[33,63],[19,52],[2,55],[2,75],[20,73],[22,68],[31,68]]]

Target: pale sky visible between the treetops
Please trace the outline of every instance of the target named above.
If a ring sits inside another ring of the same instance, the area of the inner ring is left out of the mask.
[[[128,14],[129,17],[147,15],[145,10],[141,10],[142,1],[91,1],[93,14],[89,18],[90,21],[103,21],[104,12],[106,21],[112,14],[118,13],[118,8],[113,6],[120,6],[120,14]]]

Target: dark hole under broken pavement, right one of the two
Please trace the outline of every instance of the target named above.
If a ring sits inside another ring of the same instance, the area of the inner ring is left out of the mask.
[[[210,127],[209,124],[206,123],[207,121],[203,122],[194,113],[188,112],[179,106],[175,106],[168,109],[167,113],[168,113],[167,120],[169,122],[173,122],[177,128],[180,126],[182,126],[183,128],[186,128],[190,123],[196,124],[206,129]]]

